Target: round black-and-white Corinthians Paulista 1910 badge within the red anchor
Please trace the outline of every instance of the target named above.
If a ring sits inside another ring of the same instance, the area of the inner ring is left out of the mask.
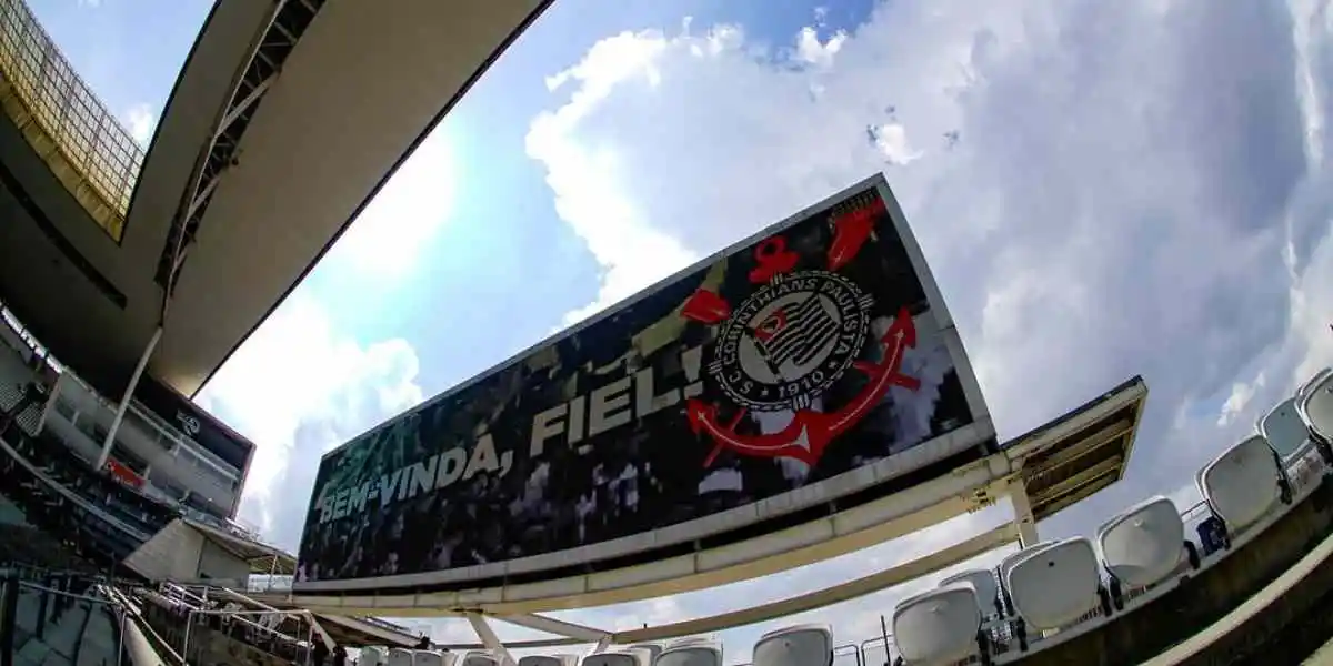
[[[722,324],[709,374],[737,406],[808,409],[860,356],[872,305],[837,273],[778,276]]]

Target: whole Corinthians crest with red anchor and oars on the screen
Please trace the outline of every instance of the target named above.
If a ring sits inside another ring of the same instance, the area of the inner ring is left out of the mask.
[[[706,368],[729,402],[686,401],[690,428],[714,442],[705,466],[722,449],[813,465],[890,386],[918,386],[900,372],[904,352],[916,345],[910,313],[900,309],[868,345],[874,300],[838,273],[870,240],[882,212],[882,200],[874,197],[868,206],[833,217],[833,240],[817,269],[798,270],[801,257],[782,236],[764,240],[754,248],[757,266],[749,274],[760,286],[734,308],[706,289],[686,301],[684,317],[716,326]],[[848,381],[849,372],[864,381]],[[849,400],[832,400],[828,392],[844,381],[857,390]],[[750,412],[793,417],[781,432],[760,433],[742,428]]]

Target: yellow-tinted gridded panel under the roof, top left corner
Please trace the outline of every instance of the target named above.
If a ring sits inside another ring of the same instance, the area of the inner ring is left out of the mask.
[[[0,0],[0,75],[64,160],[111,208],[109,218],[93,218],[120,242],[144,148],[79,77],[23,0]]]

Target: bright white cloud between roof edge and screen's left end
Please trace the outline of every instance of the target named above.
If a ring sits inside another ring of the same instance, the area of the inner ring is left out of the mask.
[[[200,394],[256,444],[243,517],[295,547],[320,456],[420,402],[416,378],[405,341],[361,345],[297,289]]]

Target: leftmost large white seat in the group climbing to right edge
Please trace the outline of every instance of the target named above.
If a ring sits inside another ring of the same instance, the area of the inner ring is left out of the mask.
[[[910,597],[893,609],[893,642],[902,663],[956,663],[981,651],[981,607],[970,583]]]

